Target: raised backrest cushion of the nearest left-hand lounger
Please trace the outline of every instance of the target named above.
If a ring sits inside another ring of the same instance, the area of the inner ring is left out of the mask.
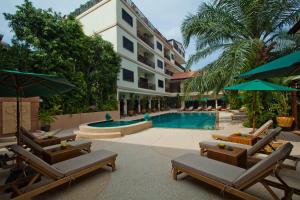
[[[16,154],[22,156],[26,162],[38,168],[39,169],[38,171],[43,171],[48,176],[51,176],[54,179],[60,179],[64,176],[64,173],[62,171],[52,167],[51,165],[49,165],[39,157],[25,150],[23,147],[19,145],[11,145],[9,146],[9,148]]]

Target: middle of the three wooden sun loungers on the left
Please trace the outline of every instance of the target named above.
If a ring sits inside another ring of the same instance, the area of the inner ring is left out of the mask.
[[[56,160],[63,161],[63,160],[68,160],[70,158],[80,156],[84,153],[90,153],[91,145],[92,145],[92,142],[89,141],[83,141],[83,140],[70,141],[67,143],[67,145],[74,147],[74,151],[69,152],[69,151],[64,151],[64,149],[61,148],[60,144],[42,147],[25,135],[22,135],[22,139],[23,139],[23,144],[29,147],[31,149],[31,152],[33,152],[35,155],[41,158],[44,158],[44,161],[46,162],[47,162],[47,158],[51,156],[49,155],[49,152],[53,152],[57,150],[61,151],[59,158]]]

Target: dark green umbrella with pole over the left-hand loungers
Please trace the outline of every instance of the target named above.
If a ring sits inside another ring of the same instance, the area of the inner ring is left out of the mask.
[[[74,85],[66,79],[54,75],[0,70],[0,97],[16,97],[17,99],[17,143],[21,144],[21,97],[53,96],[67,92],[73,88]]]

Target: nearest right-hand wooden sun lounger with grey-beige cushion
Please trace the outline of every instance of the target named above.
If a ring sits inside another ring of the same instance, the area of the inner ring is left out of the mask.
[[[287,143],[274,151],[266,159],[258,162],[247,170],[196,154],[185,154],[171,161],[173,178],[177,180],[179,174],[186,173],[187,175],[212,185],[223,192],[247,200],[259,199],[258,197],[247,193],[245,189],[260,182],[273,198],[277,196],[272,191],[271,187],[283,190],[285,198],[290,199],[293,192],[295,194],[300,194],[300,191],[296,188],[289,187],[279,176],[278,172],[280,170],[281,162],[288,157],[292,148],[293,145]],[[274,172],[279,183],[266,179],[267,176]]]

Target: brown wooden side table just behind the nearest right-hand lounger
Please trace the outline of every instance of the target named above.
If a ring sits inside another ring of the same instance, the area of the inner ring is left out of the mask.
[[[226,147],[224,149],[218,146],[208,147],[207,157],[241,168],[247,167],[246,149],[231,147],[231,150],[228,150]]]

